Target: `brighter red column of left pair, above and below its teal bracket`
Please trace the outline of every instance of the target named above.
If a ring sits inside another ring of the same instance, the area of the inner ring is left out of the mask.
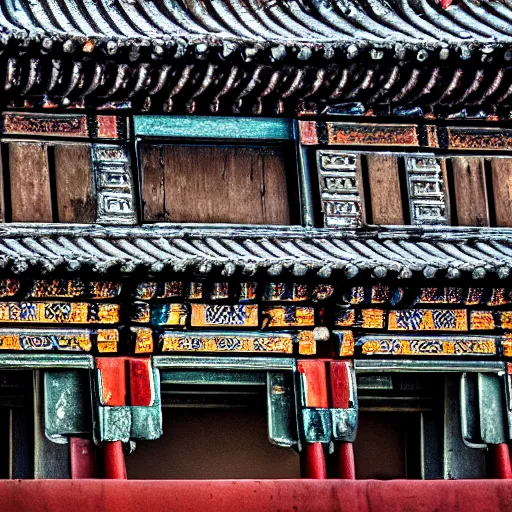
[[[100,403],[120,407],[127,402],[126,358],[101,357],[96,359],[101,374]],[[126,463],[121,441],[103,442],[103,471],[105,478],[126,479]]]

